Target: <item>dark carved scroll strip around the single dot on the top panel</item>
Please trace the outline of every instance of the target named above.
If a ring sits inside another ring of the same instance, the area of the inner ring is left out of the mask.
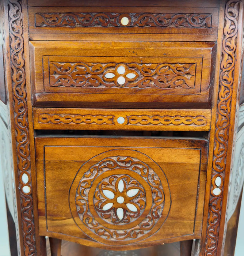
[[[192,27],[210,28],[211,14],[35,13],[35,27]]]

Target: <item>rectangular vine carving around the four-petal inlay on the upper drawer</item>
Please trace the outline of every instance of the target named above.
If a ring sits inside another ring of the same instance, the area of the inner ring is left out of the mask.
[[[119,67],[125,68],[123,75]],[[59,63],[50,61],[50,87],[194,88],[196,63]],[[107,74],[113,74],[107,78]],[[127,78],[134,74],[134,78]],[[117,79],[123,76],[125,82]]]

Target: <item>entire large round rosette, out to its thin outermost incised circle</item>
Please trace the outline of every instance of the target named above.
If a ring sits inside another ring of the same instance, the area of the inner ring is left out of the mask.
[[[136,150],[114,149],[81,166],[70,187],[69,203],[74,221],[89,237],[123,245],[160,229],[171,195],[156,162]]]

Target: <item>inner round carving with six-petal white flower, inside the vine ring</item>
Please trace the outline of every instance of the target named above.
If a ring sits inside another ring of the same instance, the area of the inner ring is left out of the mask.
[[[112,175],[99,182],[93,202],[100,218],[107,222],[130,223],[144,211],[146,193],[135,178],[124,174]]]

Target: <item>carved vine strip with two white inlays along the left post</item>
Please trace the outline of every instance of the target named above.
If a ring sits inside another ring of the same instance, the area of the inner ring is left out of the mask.
[[[35,245],[35,225],[30,170],[30,145],[21,4],[21,0],[8,0],[9,44],[14,99],[17,169],[19,176],[18,192],[20,195],[24,255],[33,256],[36,255],[37,252]]]

